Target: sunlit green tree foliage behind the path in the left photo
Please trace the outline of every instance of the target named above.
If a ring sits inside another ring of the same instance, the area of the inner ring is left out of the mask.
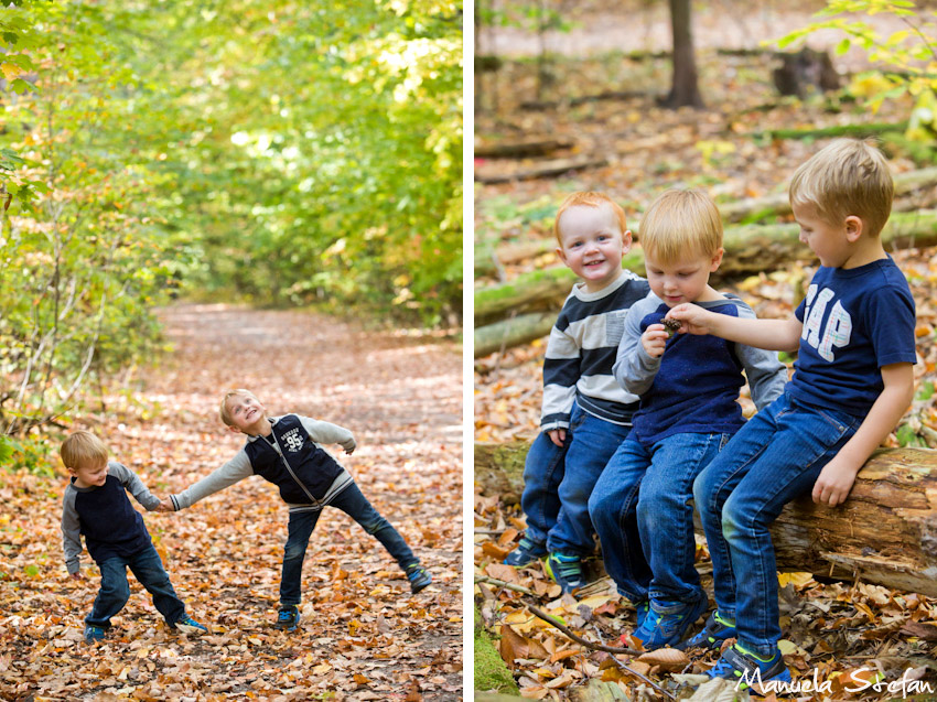
[[[461,6],[17,4],[3,71],[35,89],[0,94],[4,432],[147,355],[168,292],[461,310]]]

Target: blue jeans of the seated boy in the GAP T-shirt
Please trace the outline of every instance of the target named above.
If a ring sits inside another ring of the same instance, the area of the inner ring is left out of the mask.
[[[780,639],[777,566],[768,527],[814,488],[861,418],[797,403],[787,392],[755,414],[693,486],[712,557],[715,604],[739,641],[772,656]]]

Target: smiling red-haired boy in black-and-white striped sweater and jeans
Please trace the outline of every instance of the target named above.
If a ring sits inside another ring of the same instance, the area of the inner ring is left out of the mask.
[[[632,245],[625,213],[602,193],[573,193],[553,225],[557,255],[582,279],[550,332],[543,360],[540,434],[524,468],[527,529],[505,559],[521,566],[547,557],[547,572],[572,592],[585,584],[582,558],[594,551],[589,496],[628,435],[638,398],[612,375],[628,307],[647,281],[622,269]]]

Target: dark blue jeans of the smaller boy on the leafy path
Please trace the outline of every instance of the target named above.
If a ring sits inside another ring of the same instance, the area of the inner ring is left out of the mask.
[[[175,624],[185,616],[185,605],[172,588],[160,554],[151,543],[133,555],[115,555],[98,563],[100,590],[95,597],[91,613],[85,617],[85,624],[104,628],[110,626],[110,617],[120,612],[130,598],[130,585],[127,582],[128,566],[140,584],[153,596],[153,604],[165,617],[168,624]]]

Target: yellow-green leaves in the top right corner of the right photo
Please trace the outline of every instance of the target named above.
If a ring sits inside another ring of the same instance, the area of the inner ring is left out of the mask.
[[[882,34],[875,15],[896,18],[904,29]],[[937,12],[918,8],[911,0],[827,0],[815,17],[818,21],[778,41],[784,48],[820,30],[838,30],[844,36],[837,52],[852,46],[866,52],[876,69],[857,76],[851,90],[872,110],[886,100],[909,94],[915,107],[907,137],[933,141],[937,128]]]

